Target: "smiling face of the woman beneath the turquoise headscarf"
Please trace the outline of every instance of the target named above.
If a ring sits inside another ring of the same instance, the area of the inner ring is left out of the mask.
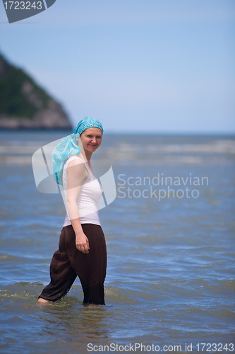
[[[102,131],[97,127],[88,128],[80,135],[80,139],[84,150],[95,152],[102,142]]]

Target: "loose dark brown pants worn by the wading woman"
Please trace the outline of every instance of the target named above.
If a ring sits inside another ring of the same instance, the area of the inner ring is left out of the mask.
[[[50,266],[51,282],[42,290],[42,299],[61,299],[78,275],[84,292],[83,304],[104,305],[104,279],[107,268],[104,233],[100,225],[82,224],[82,227],[88,237],[89,253],[76,249],[76,236],[72,225],[63,227],[59,250],[54,253]]]

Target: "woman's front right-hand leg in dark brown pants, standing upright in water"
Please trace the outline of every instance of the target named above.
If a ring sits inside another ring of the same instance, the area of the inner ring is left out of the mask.
[[[88,237],[90,250],[83,253],[76,249],[73,227],[66,229],[66,250],[71,266],[80,278],[84,304],[104,304],[104,280],[107,268],[107,250],[100,225],[82,224]]]

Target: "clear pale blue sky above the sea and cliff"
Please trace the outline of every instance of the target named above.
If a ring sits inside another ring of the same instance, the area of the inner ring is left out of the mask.
[[[56,0],[0,50],[107,132],[235,132],[234,0]]]

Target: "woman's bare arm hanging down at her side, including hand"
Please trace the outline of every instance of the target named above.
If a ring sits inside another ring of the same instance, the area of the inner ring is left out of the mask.
[[[67,167],[67,207],[68,217],[71,220],[73,230],[76,234],[76,248],[83,253],[89,253],[89,241],[83,232],[80,224],[80,215],[78,210],[78,195],[86,176],[85,164],[76,159],[71,161]]]

